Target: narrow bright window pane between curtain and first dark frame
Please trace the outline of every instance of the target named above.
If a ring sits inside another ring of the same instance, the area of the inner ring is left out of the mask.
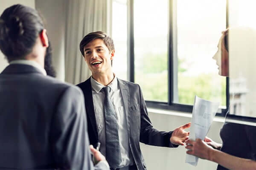
[[[127,80],[127,0],[113,0],[112,7],[113,71],[118,78]]]

